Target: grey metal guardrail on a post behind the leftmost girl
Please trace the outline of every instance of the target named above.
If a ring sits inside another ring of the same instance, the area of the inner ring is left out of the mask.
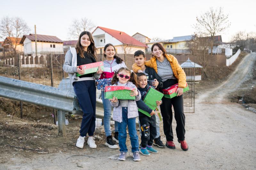
[[[83,114],[79,106],[74,111],[75,93],[70,90],[0,76],[0,96],[58,109],[59,135],[63,137],[66,137],[65,113]],[[97,99],[96,117],[102,119],[103,116],[102,100]]]

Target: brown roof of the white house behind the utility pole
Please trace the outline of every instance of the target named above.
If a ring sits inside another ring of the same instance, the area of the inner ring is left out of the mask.
[[[23,44],[25,38],[28,38],[30,41],[35,41],[35,34],[29,34],[29,35],[23,35],[20,43]],[[63,43],[62,40],[60,40],[56,36],[51,36],[51,35],[40,35],[36,34],[36,41],[38,42],[55,42],[55,43]]]

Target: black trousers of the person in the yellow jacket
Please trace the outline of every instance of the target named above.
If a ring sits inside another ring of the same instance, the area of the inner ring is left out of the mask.
[[[163,82],[163,89],[177,84],[176,79],[167,79]],[[174,118],[176,120],[176,134],[180,141],[185,140],[185,115],[183,111],[183,96],[175,96],[172,99],[162,98],[163,104],[160,105],[163,116],[164,135],[167,141],[173,141],[172,132],[172,106],[174,109]]]

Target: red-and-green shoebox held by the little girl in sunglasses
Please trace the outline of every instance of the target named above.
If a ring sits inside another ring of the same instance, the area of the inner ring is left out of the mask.
[[[116,97],[117,99],[135,100],[135,96],[130,95],[133,90],[135,90],[135,88],[125,86],[105,86],[105,99]]]

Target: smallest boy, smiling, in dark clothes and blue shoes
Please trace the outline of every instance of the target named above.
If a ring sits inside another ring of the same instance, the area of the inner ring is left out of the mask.
[[[150,109],[142,99],[147,94],[147,91],[150,87],[154,88],[153,86],[149,86],[147,82],[147,76],[144,73],[138,73],[138,90],[141,94],[141,99],[136,101],[137,106],[148,112],[151,117],[144,115],[139,111],[139,120],[140,120],[140,129],[141,129],[141,149],[140,153],[145,156],[150,156],[149,152],[158,153],[156,149],[152,147],[153,141],[156,137],[156,115],[155,111]],[[159,106],[162,101],[156,101],[156,104]]]

